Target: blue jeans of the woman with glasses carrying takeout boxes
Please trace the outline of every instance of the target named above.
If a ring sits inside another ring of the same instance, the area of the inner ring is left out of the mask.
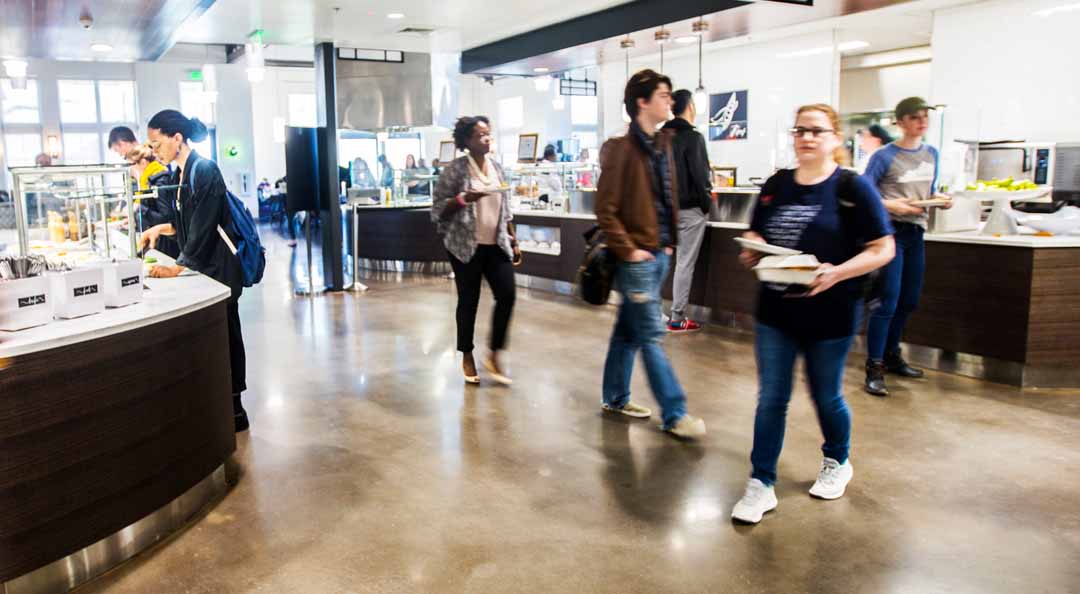
[[[850,336],[828,340],[800,340],[787,333],[757,325],[754,351],[760,392],[754,417],[753,478],[772,485],[777,482],[777,462],[784,447],[787,404],[792,401],[795,359],[806,359],[810,395],[818,409],[818,422],[825,436],[822,453],[840,462],[848,459],[851,444],[851,411],[840,393],[843,363],[851,348]]]

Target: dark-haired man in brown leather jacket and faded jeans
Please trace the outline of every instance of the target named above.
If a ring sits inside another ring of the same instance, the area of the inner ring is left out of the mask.
[[[687,414],[686,393],[660,345],[665,334],[660,285],[678,240],[671,137],[657,134],[671,118],[672,81],[642,70],[626,83],[623,104],[630,130],[604,144],[596,185],[596,220],[618,260],[616,286],[622,296],[604,364],[603,407],[636,418],[652,414],[630,399],[634,359],[642,351],[664,431],[697,437],[705,433],[705,423]]]

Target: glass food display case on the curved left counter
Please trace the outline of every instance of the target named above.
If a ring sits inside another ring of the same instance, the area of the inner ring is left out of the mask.
[[[0,229],[5,253],[40,254],[71,266],[129,258],[141,230],[126,165],[14,167],[14,237]]]

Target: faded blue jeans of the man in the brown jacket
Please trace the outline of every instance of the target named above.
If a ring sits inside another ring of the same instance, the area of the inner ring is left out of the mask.
[[[660,285],[667,275],[671,256],[663,251],[653,255],[656,260],[620,261],[616,267],[616,287],[622,295],[622,305],[604,363],[604,403],[621,408],[630,402],[634,357],[642,351],[649,387],[660,404],[666,429],[686,416],[686,393],[660,345],[665,335],[660,314]]]

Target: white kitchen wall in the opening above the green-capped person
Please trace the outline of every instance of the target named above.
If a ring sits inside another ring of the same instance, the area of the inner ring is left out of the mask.
[[[840,111],[891,110],[901,99],[930,95],[930,62],[840,71]]]

